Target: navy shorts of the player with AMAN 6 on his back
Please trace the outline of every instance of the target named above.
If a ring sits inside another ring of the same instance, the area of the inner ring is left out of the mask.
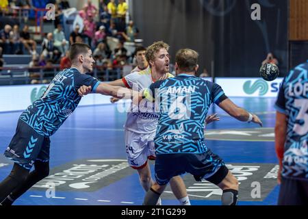
[[[218,184],[227,176],[228,168],[223,160],[208,150],[206,153],[157,154],[155,179],[159,185],[166,185],[172,177],[189,172],[196,181],[206,179]]]

